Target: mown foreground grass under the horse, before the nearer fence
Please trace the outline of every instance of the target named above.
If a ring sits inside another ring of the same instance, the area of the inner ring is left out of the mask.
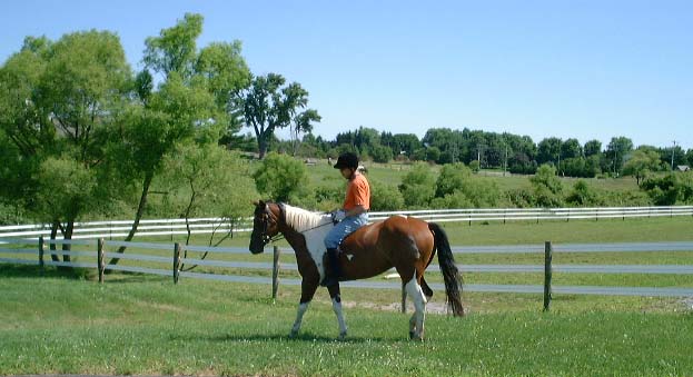
[[[407,316],[347,305],[336,341],[326,292],[297,339],[286,335],[298,292],[276,304],[265,286],[119,276],[106,285],[0,267],[0,375],[685,376],[693,373],[690,311],[519,307],[465,318],[427,316],[427,340]],[[26,276],[29,275],[29,276]],[[383,292],[373,292],[376,302]],[[347,289],[345,297],[355,297]],[[472,300],[482,297],[469,298]],[[495,295],[489,299],[499,299]],[[348,301],[347,301],[348,304]]]

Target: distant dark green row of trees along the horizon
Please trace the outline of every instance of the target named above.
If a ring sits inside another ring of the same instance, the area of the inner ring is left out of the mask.
[[[255,151],[255,139],[248,135],[229,140],[231,148]],[[464,162],[473,169],[505,169],[513,173],[533,175],[548,163],[565,177],[615,177],[640,175],[644,171],[666,171],[677,166],[693,166],[693,149],[681,146],[661,148],[638,146],[627,137],[613,137],[608,145],[577,139],[550,137],[535,143],[528,136],[432,128],[423,139],[413,133],[379,132],[360,127],[341,132],[334,140],[307,133],[296,140],[274,138],[270,150],[293,152],[300,157],[335,158],[344,151],[356,151],[363,159],[375,162],[433,161],[438,165]],[[673,158],[673,160],[672,160]],[[638,179],[640,181],[640,179]]]

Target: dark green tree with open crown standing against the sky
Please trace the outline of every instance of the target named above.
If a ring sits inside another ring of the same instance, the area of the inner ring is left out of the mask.
[[[286,86],[286,79],[278,73],[268,73],[253,79],[242,99],[245,125],[253,127],[258,143],[260,159],[267,153],[268,141],[277,128],[288,127],[298,116],[318,121],[316,110],[300,116],[299,109],[308,105],[308,91],[298,82]]]

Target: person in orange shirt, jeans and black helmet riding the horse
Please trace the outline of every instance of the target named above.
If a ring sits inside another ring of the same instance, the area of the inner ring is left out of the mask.
[[[370,186],[366,177],[358,171],[358,157],[346,152],[339,156],[335,169],[339,169],[341,177],[348,180],[347,192],[341,209],[333,214],[335,221],[339,221],[325,237],[325,247],[329,258],[323,286],[333,286],[339,281],[341,269],[337,248],[341,240],[368,222],[370,209]]]

